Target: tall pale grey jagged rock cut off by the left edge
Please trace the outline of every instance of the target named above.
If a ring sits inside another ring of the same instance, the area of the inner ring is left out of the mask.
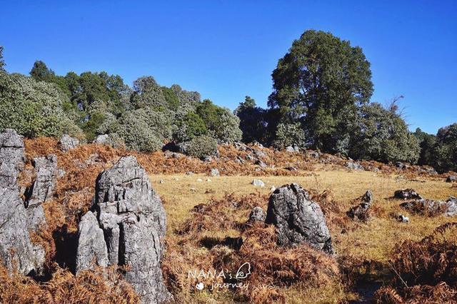
[[[16,131],[0,134],[0,263],[10,273],[40,273],[44,248],[30,241],[17,176],[24,168],[24,141]]]

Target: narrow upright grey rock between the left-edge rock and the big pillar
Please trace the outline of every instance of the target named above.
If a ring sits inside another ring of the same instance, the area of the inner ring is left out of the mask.
[[[46,219],[42,203],[54,195],[57,179],[57,156],[34,158],[36,179],[31,188],[26,190],[27,226],[36,230]]]

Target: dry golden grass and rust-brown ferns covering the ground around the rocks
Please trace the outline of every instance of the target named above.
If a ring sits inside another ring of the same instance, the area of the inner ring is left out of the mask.
[[[372,171],[351,172],[343,167],[346,161],[336,156],[324,154],[312,158],[305,153],[263,149],[266,157],[262,160],[268,167],[261,168],[251,161],[242,164],[237,161],[238,158],[246,160],[246,154],[251,152],[238,151],[231,146],[221,146],[219,151],[219,161],[204,163],[186,157],[165,158],[161,152],[131,153],[93,144],[61,153],[52,139],[27,140],[26,168],[31,169],[33,157],[55,153],[59,167],[66,171],[59,179],[54,198],[44,204],[47,226],[32,235],[34,242],[46,248],[50,279],[48,283],[36,283],[18,275],[5,276],[1,270],[0,302],[33,303],[42,299],[46,303],[46,299],[52,299],[54,303],[75,303],[75,299],[79,299],[82,302],[102,300],[103,303],[103,293],[107,294],[105,300],[111,303],[125,303],[125,296],[124,300],[116,298],[124,293],[129,295],[131,302],[136,301],[129,285],[116,279],[116,270],[110,270],[108,278],[91,272],[75,277],[64,270],[74,269],[77,226],[91,204],[96,176],[127,154],[139,159],[151,174],[153,187],[164,199],[168,220],[164,276],[179,303],[214,303],[214,300],[217,303],[341,303],[355,300],[358,295],[353,288],[359,281],[387,283],[391,279],[388,263],[392,253],[398,253],[395,251],[398,244],[420,241],[437,226],[449,221],[442,216],[428,218],[409,214],[400,208],[401,201],[392,198],[393,192],[414,188],[424,198],[445,200],[450,195],[457,196],[457,188],[444,183],[443,176],[430,175],[415,166],[401,171],[371,161],[362,162],[362,165]],[[288,170],[288,167],[297,170]],[[209,177],[211,168],[219,168],[221,176]],[[379,171],[375,173],[376,170]],[[196,174],[184,174],[188,171]],[[251,185],[252,179],[258,176],[266,183],[265,188]],[[211,181],[207,181],[208,178]],[[33,171],[21,175],[21,185],[29,185],[32,181]],[[243,225],[253,206],[266,210],[271,186],[287,183],[301,184],[321,205],[331,230],[335,257],[306,245],[278,248],[273,228]],[[346,211],[368,189],[374,196],[371,219],[366,223],[351,221]],[[199,204],[204,205],[192,211]],[[411,223],[398,223],[398,213],[408,216]],[[197,280],[188,275],[189,270],[224,268],[236,271],[244,262],[251,263],[252,267],[251,275],[244,281],[248,283],[246,288],[196,290],[197,282],[211,286],[230,281],[223,278]],[[109,283],[111,280],[116,283]],[[94,290],[92,283],[100,286],[99,290]],[[56,289],[59,284],[61,289]],[[435,288],[420,285],[421,292],[445,294],[452,288],[447,284],[439,283]],[[395,287],[386,287],[386,292],[381,290],[378,294],[392,299],[407,296]],[[71,290],[77,293],[73,294]],[[83,298],[77,298],[79,296]],[[93,298],[86,300],[88,298],[84,296]]]

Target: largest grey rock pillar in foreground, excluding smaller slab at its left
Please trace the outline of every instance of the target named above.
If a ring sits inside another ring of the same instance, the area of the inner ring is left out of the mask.
[[[161,271],[166,230],[164,206],[134,156],[121,158],[99,174],[94,211],[104,232],[109,265],[128,267],[125,278],[143,303],[172,300]]]

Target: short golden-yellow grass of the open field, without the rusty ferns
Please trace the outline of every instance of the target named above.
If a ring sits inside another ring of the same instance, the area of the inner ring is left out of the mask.
[[[368,223],[347,221],[343,226],[345,233],[341,233],[341,225],[328,223],[333,238],[333,245],[337,256],[351,256],[359,260],[369,260],[388,268],[388,260],[395,245],[403,240],[421,240],[430,234],[433,229],[443,223],[453,221],[452,218],[442,216],[428,218],[417,216],[403,211],[398,199],[393,199],[393,192],[400,188],[413,188],[425,198],[445,200],[448,196],[457,196],[457,188],[451,183],[445,183],[442,179],[433,180],[420,178],[408,180],[401,176],[387,176],[368,171],[303,171],[300,176],[220,176],[209,177],[204,174],[194,175],[151,175],[154,189],[164,198],[168,228],[167,242],[171,248],[173,243],[179,242],[181,237],[178,230],[183,223],[193,217],[191,208],[199,203],[206,203],[211,198],[221,199],[226,193],[234,193],[236,196],[249,193],[268,195],[271,186],[279,187],[287,183],[298,183],[305,189],[314,189],[318,192],[330,191],[333,201],[338,205],[339,214],[326,214],[326,218],[346,218],[345,213],[354,204],[354,199],[362,196],[368,189],[373,191],[374,215]],[[266,184],[264,188],[251,185],[253,178],[261,178]],[[208,181],[210,179],[211,181]],[[162,181],[162,182],[160,182]],[[261,206],[266,210],[266,201]],[[325,208],[324,208],[325,210]],[[333,209],[331,213],[334,213]],[[410,223],[399,223],[393,217],[402,213],[410,218]],[[248,212],[236,213],[237,218],[233,221],[246,221]],[[233,213],[231,213],[233,215]],[[236,230],[206,230],[204,235],[217,238],[226,236],[235,237],[239,233]],[[204,257],[208,249],[204,246],[194,245],[190,250],[195,250],[195,256]],[[191,264],[190,264],[191,265]],[[185,269],[184,269],[185,270]],[[371,270],[374,280],[383,282],[383,273],[389,269]],[[362,271],[362,270],[361,270]],[[378,272],[378,273],[377,273]],[[387,278],[386,278],[387,279]],[[230,302],[233,295],[214,294],[199,292],[186,293],[181,300],[184,301],[207,301],[216,299]],[[300,285],[291,285],[282,288],[287,303],[338,303],[343,300],[361,299],[358,295],[346,290],[338,283],[328,284],[319,288],[307,288],[303,290]],[[211,300],[209,300],[211,299]]]

